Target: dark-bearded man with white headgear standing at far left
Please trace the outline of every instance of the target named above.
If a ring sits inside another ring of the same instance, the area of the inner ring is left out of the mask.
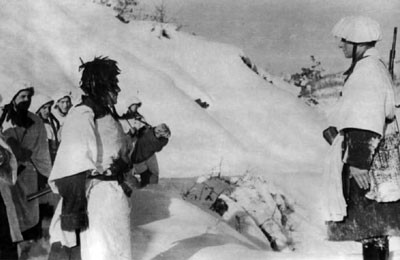
[[[4,93],[4,92],[3,92]],[[28,111],[34,88],[30,83],[14,85],[0,118],[2,132],[18,162],[18,179],[11,188],[19,226],[24,240],[41,237],[39,204],[26,196],[38,190],[38,175],[47,178],[51,170],[46,129],[42,120]]]

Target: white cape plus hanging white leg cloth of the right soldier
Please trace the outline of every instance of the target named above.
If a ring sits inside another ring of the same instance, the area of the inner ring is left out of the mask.
[[[330,115],[339,131],[355,128],[384,135],[385,119],[394,116],[394,90],[388,71],[375,48],[368,49],[346,81],[342,97]],[[327,157],[325,168],[325,220],[340,221],[346,216],[342,193],[342,145],[338,135]],[[344,158],[345,160],[345,158]]]

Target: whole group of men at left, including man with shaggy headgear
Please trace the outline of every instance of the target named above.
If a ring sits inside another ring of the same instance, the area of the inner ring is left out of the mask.
[[[116,61],[97,57],[80,70],[77,98],[64,90],[51,98],[27,82],[2,94],[0,259],[18,259],[21,241],[42,236],[45,203],[54,206],[49,259],[132,257],[129,196],[158,183],[155,153],[170,130],[148,124],[134,96],[117,113]],[[53,194],[28,201],[48,187]]]

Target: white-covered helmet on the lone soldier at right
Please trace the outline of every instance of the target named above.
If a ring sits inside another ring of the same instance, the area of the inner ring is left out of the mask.
[[[353,43],[376,42],[382,40],[379,23],[365,16],[348,16],[342,18],[332,29],[335,37]]]

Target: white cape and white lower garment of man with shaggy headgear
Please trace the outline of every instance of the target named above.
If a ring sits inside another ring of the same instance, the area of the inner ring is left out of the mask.
[[[94,120],[89,107],[73,108],[64,123],[50,186],[57,192],[54,180],[87,170],[104,172],[113,158],[126,153],[126,146],[122,127],[111,115]],[[130,205],[117,181],[92,180],[87,197],[89,228],[80,234],[82,259],[131,260]],[[76,243],[73,234],[60,227],[61,203],[50,227],[51,242],[71,247]]]

